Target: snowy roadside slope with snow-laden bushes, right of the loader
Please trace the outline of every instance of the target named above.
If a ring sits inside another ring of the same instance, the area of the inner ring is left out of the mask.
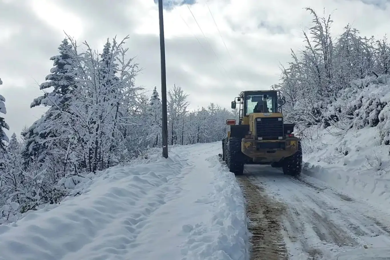
[[[332,126],[305,131],[304,173],[390,206],[390,75],[356,80],[328,106]]]

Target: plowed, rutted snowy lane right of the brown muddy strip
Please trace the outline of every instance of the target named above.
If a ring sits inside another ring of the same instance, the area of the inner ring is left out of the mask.
[[[385,218],[378,219],[374,208],[362,201],[271,167],[251,167],[246,175],[247,182],[285,205],[281,233],[291,260],[332,259],[340,251],[363,245],[390,246]]]

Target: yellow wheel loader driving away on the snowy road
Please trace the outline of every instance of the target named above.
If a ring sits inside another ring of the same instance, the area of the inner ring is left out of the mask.
[[[284,123],[280,91],[243,91],[232,101],[239,103],[239,122],[230,125],[222,140],[222,160],[230,172],[242,175],[245,164],[269,164],[284,174],[297,176],[302,168],[301,140],[295,137],[294,124]]]

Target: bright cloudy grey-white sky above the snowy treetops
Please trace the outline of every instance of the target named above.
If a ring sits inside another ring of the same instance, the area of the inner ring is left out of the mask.
[[[190,94],[191,108],[210,102],[229,107],[242,90],[278,82],[279,64],[302,46],[301,28],[332,13],[337,36],[351,23],[363,35],[390,34],[386,0],[164,0],[167,85]],[[160,89],[156,0],[0,0],[0,93],[12,132],[20,133],[44,111],[30,109],[38,84],[52,67],[64,30],[101,50],[107,37],[130,35],[129,53],[144,70],[137,84]],[[192,12],[192,14],[191,14]],[[195,18],[195,19],[194,19]],[[225,47],[226,45],[226,47]]]

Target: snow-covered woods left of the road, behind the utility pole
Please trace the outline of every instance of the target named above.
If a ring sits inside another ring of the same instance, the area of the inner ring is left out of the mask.
[[[101,53],[86,42],[86,50],[78,52],[73,39],[62,41],[59,55],[51,58],[54,68],[41,84],[44,94],[31,104],[48,110],[23,129],[21,141],[12,134],[5,147],[0,224],[39,205],[58,203],[85,175],[161,145],[160,97],[156,87],[149,96],[135,85],[139,69],[127,57],[127,39],[107,41]],[[225,120],[234,117],[232,113],[213,103],[190,111],[187,98],[176,85],[169,91],[172,144],[220,141],[226,136]]]

